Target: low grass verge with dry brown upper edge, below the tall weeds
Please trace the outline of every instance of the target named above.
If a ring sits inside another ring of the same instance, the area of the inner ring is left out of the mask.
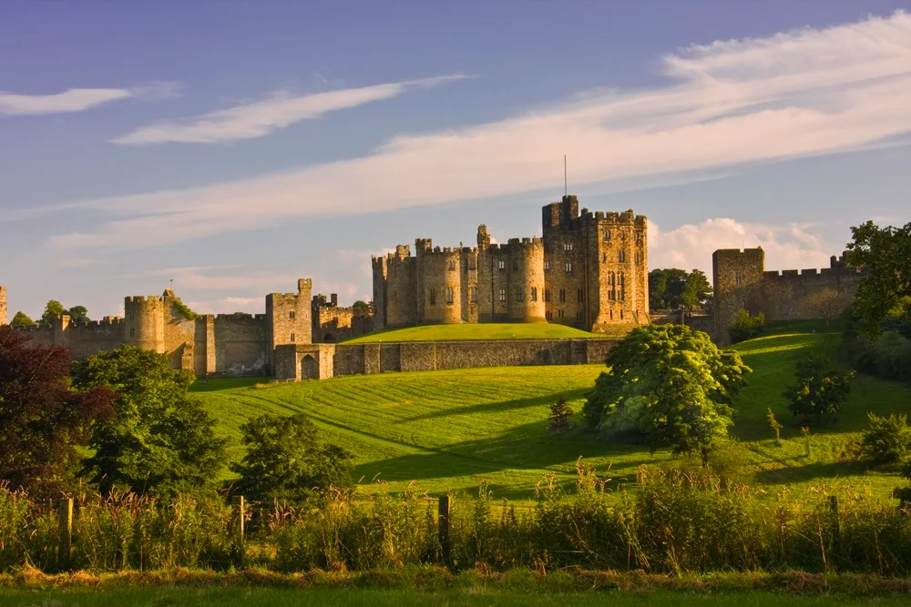
[[[5,587],[5,589],[3,588]],[[708,577],[642,572],[527,570],[452,574],[435,567],[365,573],[176,571],[148,575],[75,573],[0,576],[5,605],[899,605],[911,581],[869,576],[723,573]]]

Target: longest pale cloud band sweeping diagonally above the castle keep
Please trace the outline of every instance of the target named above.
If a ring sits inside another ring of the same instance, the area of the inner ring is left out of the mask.
[[[673,78],[663,88],[572,96],[523,116],[393,137],[370,156],[266,177],[88,201],[82,206],[115,217],[48,244],[162,246],[289,218],[539,190],[562,181],[563,152],[580,185],[870,148],[911,131],[906,13],[692,46],[663,57],[663,66]]]

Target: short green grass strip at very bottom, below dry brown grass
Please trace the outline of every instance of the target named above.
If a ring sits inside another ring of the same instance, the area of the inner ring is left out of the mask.
[[[272,588],[138,588],[108,591],[2,591],[0,603],[10,607],[109,607],[112,605],[228,605],[250,607],[294,607],[296,605],[673,605],[674,607],[722,605],[782,605],[815,607],[823,605],[905,605],[906,596],[872,598],[846,595],[793,596],[771,592],[527,592],[488,590],[484,587],[436,592],[416,590],[364,590],[359,588],[272,589]]]

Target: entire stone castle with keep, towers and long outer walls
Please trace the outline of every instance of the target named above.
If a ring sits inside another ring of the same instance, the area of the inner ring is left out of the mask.
[[[312,296],[312,281],[296,293],[271,293],[265,314],[198,315],[170,289],[161,296],[127,297],[124,317],[23,331],[36,345],[59,345],[86,359],[121,345],[167,354],[175,368],[197,377],[271,375],[326,378],[385,371],[464,369],[523,364],[603,361],[611,339],[527,339],[481,342],[338,342],[374,330],[434,323],[548,322],[621,335],[650,322],[686,321],[724,345],[740,309],[769,320],[820,318],[816,295],[828,305],[850,305],[863,268],[833,257],[822,270],[766,271],[762,248],[719,249],[712,255],[712,316],[684,319],[679,312],[650,318],[648,226],[643,216],[591,213],[565,196],[543,207],[542,238],[491,242],[477,228],[474,248],[433,247],[415,240],[372,258],[374,299],[343,308],[332,294]],[[7,321],[0,286],[0,325]]]

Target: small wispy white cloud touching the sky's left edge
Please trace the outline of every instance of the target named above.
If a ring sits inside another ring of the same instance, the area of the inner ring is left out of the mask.
[[[131,88],[70,88],[52,95],[21,95],[0,91],[0,116],[41,116],[82,112],[92,107],[129,98],[177,96],[172,82],[151,83]]]

